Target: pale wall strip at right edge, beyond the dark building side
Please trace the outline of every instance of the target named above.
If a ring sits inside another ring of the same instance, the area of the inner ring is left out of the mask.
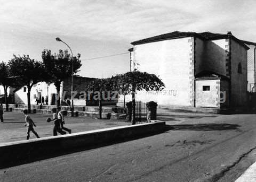
[[[247,90],[249,92],[255,92],[255,47],[254,45],[247,45],[250,47],[247,50]]]

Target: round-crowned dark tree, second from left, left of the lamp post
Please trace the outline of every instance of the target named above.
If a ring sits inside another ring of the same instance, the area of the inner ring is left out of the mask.
[[[31,112],[30,91],[33,85],[47,80],[47,74],[42,62],[31,59],[29,55],[15,56],[9,61],[10,75],[18,76],[19,82],[27,86],[28,112]]]

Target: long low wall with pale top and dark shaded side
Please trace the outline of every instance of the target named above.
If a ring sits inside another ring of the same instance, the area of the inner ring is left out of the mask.
[[[96,148],[133,137],[159,133],[164,129],[165,122],[145,123],[2,143],[0,144],[0,168],[47,159],[65,152],[71,153],[79,148],[84,150]]]

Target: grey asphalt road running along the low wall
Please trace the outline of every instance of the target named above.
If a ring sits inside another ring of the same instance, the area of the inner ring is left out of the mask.
[[[164,112],[158,118],[170,125],[165,133],[2,169],[0,179],[231,182],[256,146],[255,116]]]

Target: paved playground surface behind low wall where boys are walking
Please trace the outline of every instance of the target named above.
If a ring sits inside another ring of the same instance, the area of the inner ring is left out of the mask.
[[[52,117],[51,115],[29,114],[29,116],[34,120],[36,124],[34,129],[40,137],[53,135],[54,123],[46,122],[46,118]],[[23,126],[24,124],[25,118],[20,112],[4,112],[4,123],[0,124],[0,143],[26,140],[27,127]],[[124,120],[65,117],[65,127],[71,129],[72,133],[125,125],[130,123]],[[36,137],[30,132],[30,138]]]

